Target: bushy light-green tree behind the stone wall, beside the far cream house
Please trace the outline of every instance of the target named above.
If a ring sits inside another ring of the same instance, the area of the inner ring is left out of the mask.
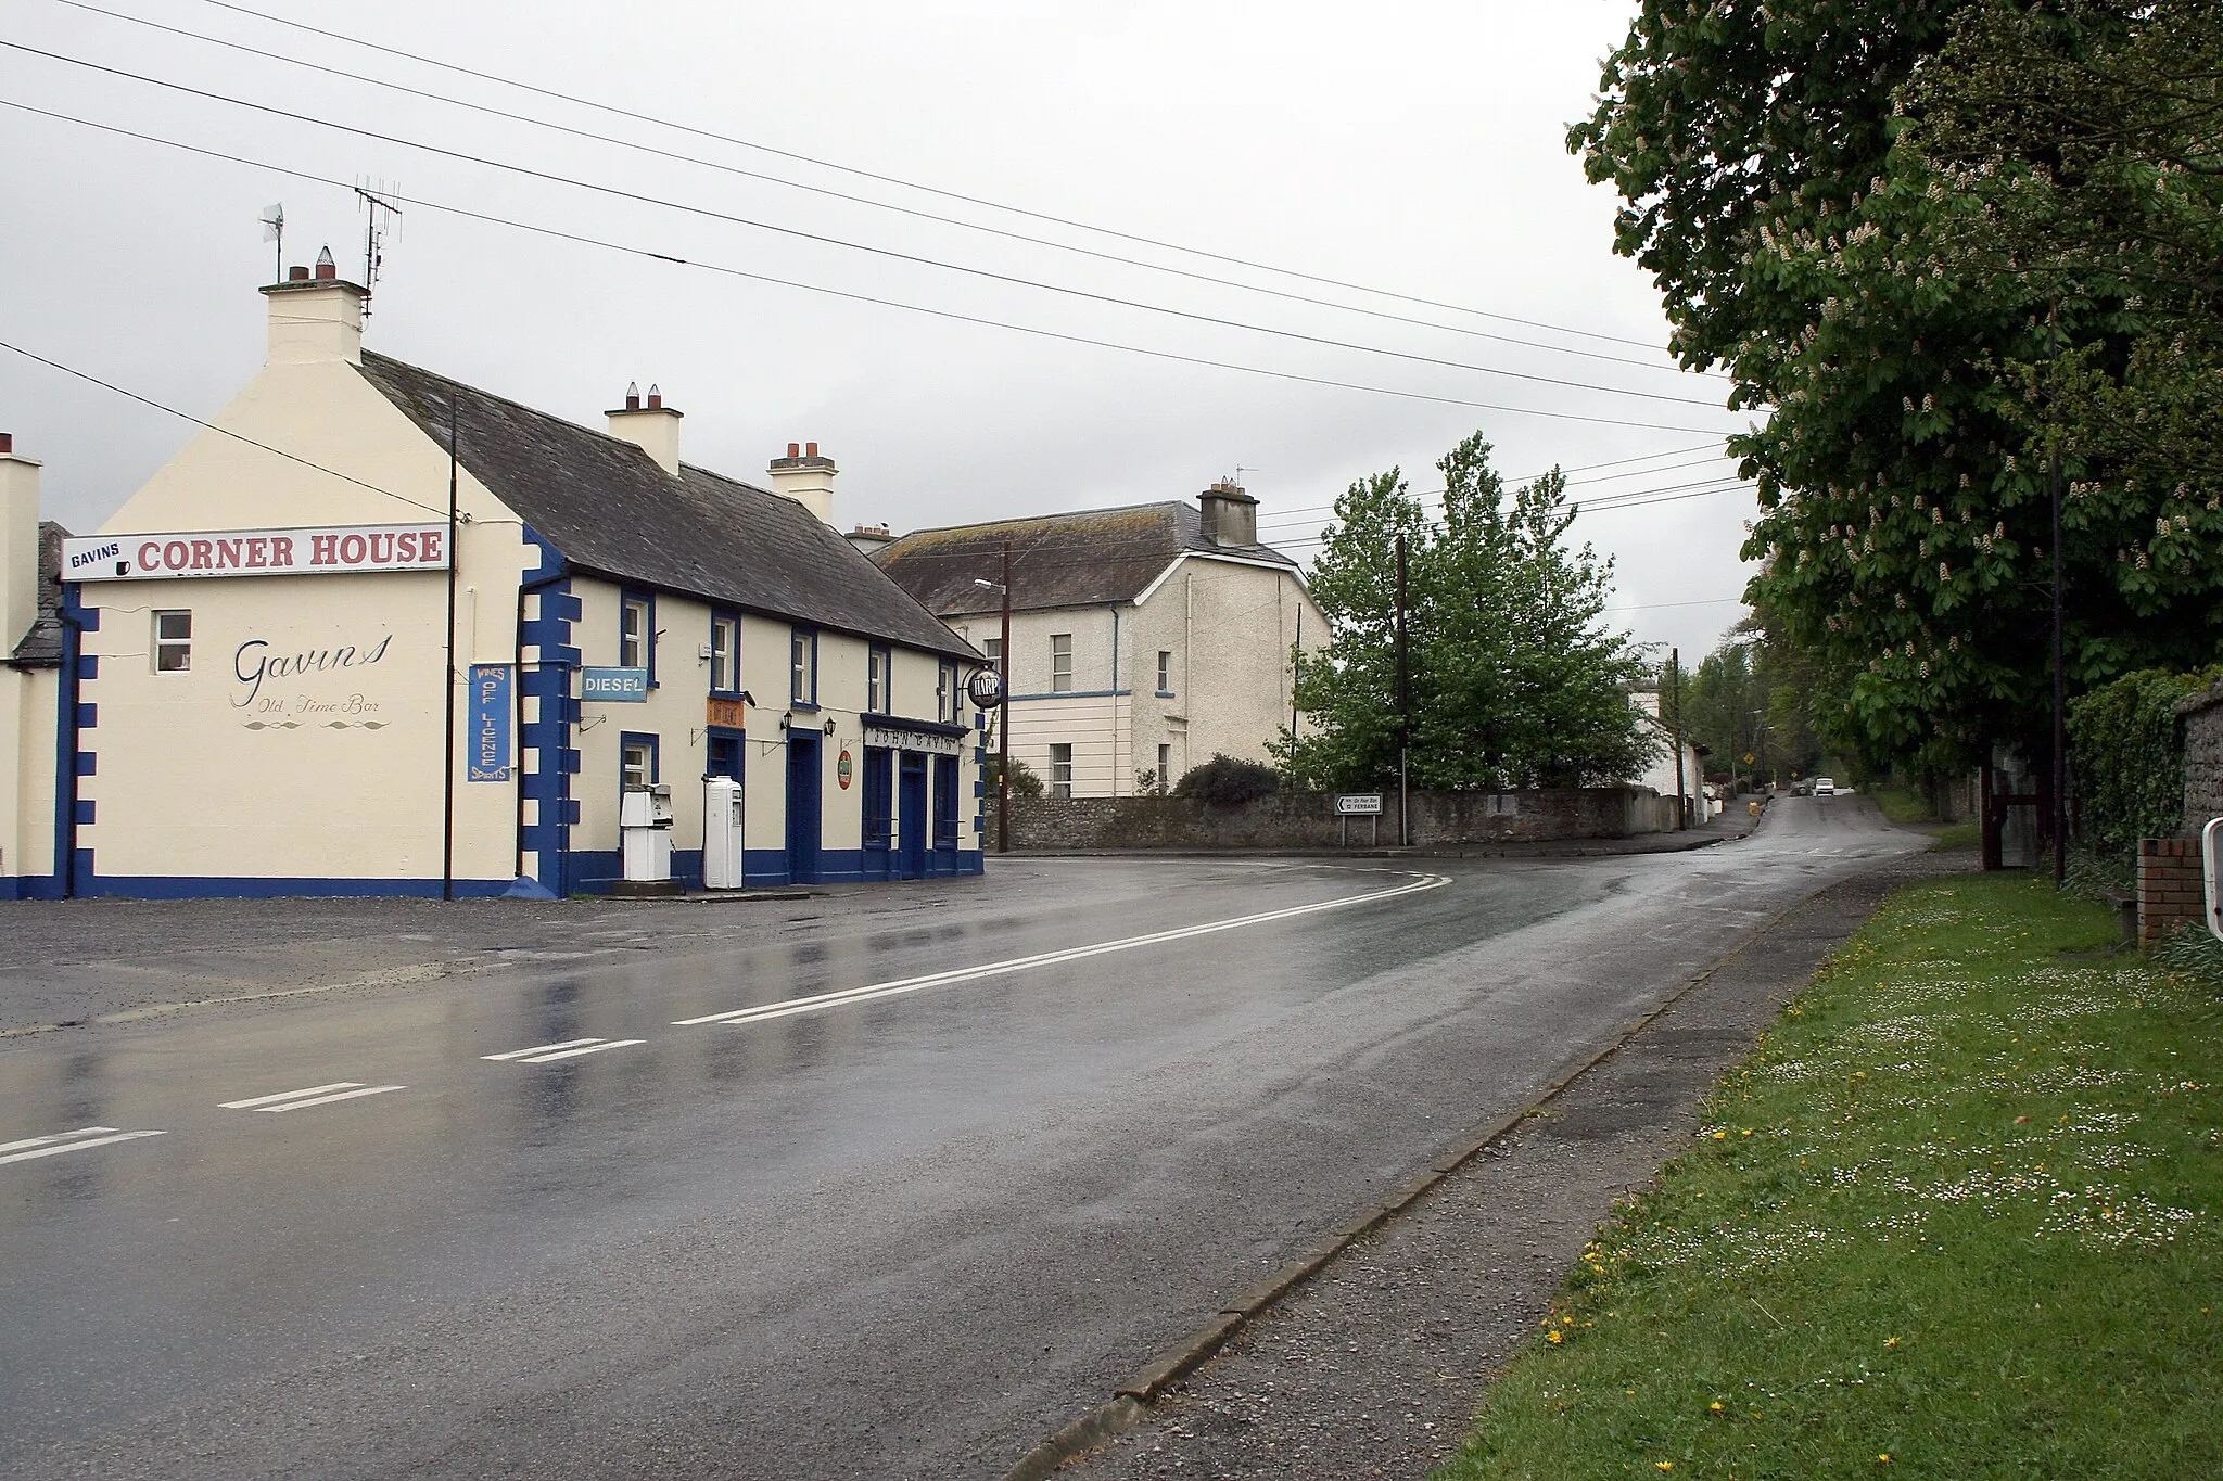
[[[1585,786],[1627,777],[1649,739],[1627,699],[1643,673],[1601,624],[1612,562],[1572,546],[1558,471],[1505,493],[1481,433],[1443,473],[1432,522],[1398,471],[1352,484],[1314,568],[1336,633],[1298,662],[1298,702],[1320,724],[1278,759],[1318,786],[1396,770],[1396,535],[1407,546],[1412,777],[1432,788]]]

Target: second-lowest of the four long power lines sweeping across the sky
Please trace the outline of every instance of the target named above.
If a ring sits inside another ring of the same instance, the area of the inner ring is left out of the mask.
[[[760,222],[760,220],[754,220],[754,218],[747,218],[747,215],[734,215],[731,211],[718,211],[714,206],[696,206],[696,204],[689,204],[689,202],[682,202],[682,200],[669,200],[669,198],[662,198],[662,195],[649,195],[645,191],[627,191],[622,187],[598,184],[594,180],[580,180],[578,175],[562,175],[562,173],[556,173],[556,171],[534,169],[529,164],[516,164],[516,162],[509,162],[509,160],[496,160],[491,155],[476,155],[476,153],[469,153],[469,151],[462,151],[462,149],[447,149],[442,144],[425,144],[420,140],[402,138],[398,133],[380,133],[378,129],[360,129],[356,124],[342,124],[342,122],[336,122],[336,120],[329,120],[329,118],[313,118],[309,113],[296,113],[291,109],[280,109],[280,107],[273,107],[273,104],[267,104],[267,102],[253,102],[249,98],[233,98],[229,93],[216,93],[216,91],[209,91],[209,89],[189,87],[185,82],[169,82],[167,78],[151,78],[147,73],[129,71],[124,67],[107,67],[102,62],[87,62],[84,58],[67,56],[62,51],[44,51],[42,47],[29,47],[24,42],[0,40],[0,47],[7,47],[9,51],[22,51],[27,56],[47,58],[51,62],[62,62],[67,67],[82,67],[87,71],[98,71],[98,73],[104,73],[104,75],[111,75],[111,78],[124,78],[129,82],[142,82],[147,87],[160,87],[160,89],[167,89],[167,91],[173,91],[173,93],[185,93],[187,98],[202,98],[207,102],[222,102],[227,107],[249,109],[253,113],[267,113],[271,118],[285,118],[285,120],[300,122],[300,124],[311,124],[311,127],[318,127],[318,129],[331,129],[336,133],[351,133],[356,138],[376,140],[380,144],[396,144],[400,149],[416,149],[418,153],[431,153],[431,155],[438,155],[442,160],[458,160],[458,162],[465,162],[465,164],[480,164],[485,169],[498,169],[498,171],[505,171],[505,173],[511,173],[511,175],[522,175],[527,180],[542,180],[547,184],[562,184],[562,187],[569,187],[569,189],[576,189],[576,191],[591,191],[596,195],[609,195],[614,200],[629,200],[629,202],[636,202],[636,204],[660,206],[660,209],[667,209],[667,211],[682,211],[687,215],[700,215],[700,218],[716,220],[716,222],[727,222],[727,224],[734,224],[734,226],[749,226],[754,231],[769,231],[769,233],[776,233],[776,235],[794,238],[798,242],[818,242],[820,246],[840,246],[845,251],[858,251],[858,253],[867,253],[867,255],[874,255],[874,258],[887,258],[891,262],[909,262],[914,266],[931,266],[931,269],[938,269],[938,271],[945,271],[945,273],[963,273],[967,278],[980,278],[980,280],[987,280],[987,282],[1000,282],[1000,284],[1009,284],[1009,286],[1034,289],[1034,291],[1040,291],[1040,293],[1060,293],[1065,298],[1078,298],[1078,300],[1085,300],[1085,302],[1109,304],[1109,306],[1116,306],[1116,309],[1136,309],[1140,313],[1160,313],[1160,315],[1185,320],[1185,322],[1192,322],[1192,324],[1212,324],[1212,326],[1218,326],[1218,329],[1240,329],[1240,331],[1247,331],[1247,333],[1274,335],[1278,340],[1296,340],[1300,344],[1318,344],[1323,349],[1343,349],[1343,351],[1352,351],[1352,353],[1360,353],[1360,355],[1383,355],[1387,360],[1405,360],[1405,362],[1412,362],[1412,364],[1432,364],[1432,366],[1441,366],[1441,369],[1449,369],[1449,371],[1472,371],[1476,375],[1501,375],[1505,380],[1525,380],[1525,382],[1532,382],[1532,384],[1563,386],[1563,389],[1569,389],[1569,391],[1594,391],[1598,395],[1627,395],[1627,397],[1638,397],[1638,400],[1647,400],[1647,402],[1672,402],[1672,404],[1678,404],[1678,406],[1723,409],[1718,402],[1705,402],[1705,400],[1689,397],[1689,395],[1669,395],[1665,391],[1629,391],[1625,386],[1601,386],[1601,384],[1594,384],[1594,382],[1565,380],[1565,377],[1558,377],[1558,375],[1532,375],[1529,371],[1505,371],[1505,369],[1498,369],[1498,366],[1472,364],[1467,360],[1445,360],[1441,355],[1416,355],[1412,351],[1385,349],[1380,344],[1358,344],[1356,340],[1334,340],[1334,337],[1327,337],[1327,335],[1307,335],[1307,333],[1296,331],[1296,329],[1274,329],[1269,324],[1249,324],[1245,320],[1229,320],[1229,318],[1220,318],[1220,315],[1214,315],[1214,313],[1194,313],[1189,309],[1172,309],[1167,304],[1152,304],[1152,302],[1145,302],[1145,300],[1136,300],[1136,298],[1118,298],[1116,293],[1094,293],[1089,289],[1074,289],[1069,284],[1043,282],[1038,278],[1020,278],[1016,273],[998,273],[998,271],[991,271],[991,269],[985,269],[985,266],[965,266],[963,262],[945,262],[940,258],[927,258],[927,255],[920,255],[920,253],[896,251],[894,246],[871,246],[867,242],[849,242],[847,238],[827,235],[823,231],[803,231],[800,226],[780,226],[776,222]]]

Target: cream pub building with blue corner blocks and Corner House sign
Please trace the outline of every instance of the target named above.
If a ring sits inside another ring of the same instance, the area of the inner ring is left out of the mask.
[[[656,786],[700,884],[711,777],[745,884],[980,873],[983,659],[831,528],[816,444],[756,488],[654,391],[589,431],[367,353],[329,266],[265,293],[267,366],[62,546],[18,893],[596,893]]]

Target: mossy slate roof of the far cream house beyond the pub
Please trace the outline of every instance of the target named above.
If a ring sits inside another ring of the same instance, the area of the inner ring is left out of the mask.
[[[1185,551],[1296,571],[1296,562],[1274,546],[1214,544],[1205,537],[1203,513],[1185,500],[916,531],[880,546],[871,560],[938,617],[991,613],[1003,606],[1003,593],[974,586],[974,580],[1003,580],[1005,540],[1011,542],[1014,611],[1134,602]]]

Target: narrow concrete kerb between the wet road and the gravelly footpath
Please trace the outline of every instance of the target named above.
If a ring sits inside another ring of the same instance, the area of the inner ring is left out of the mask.
[[[1669,1008],[1683,1001],[1689,993],[1709,981],[1721,968],[1745,955],[1754,941],[1765,937],[1778,924],[1783,924],[1792,913],[1801,910],[1814,895],[1814,890],[1774,915],[1770,915],[1761,926],[1747,935],[1736,948],[1725,950],[1721,957],[1709,961],[1705,968],[1694,973],[1689,979],[1678,984],[1674,993],[1663,997],[1658,1006],[1643,1012],[1629,1021],[1609,1044],[1594,1052],[1583,1064],[1574,1066],[1538,1095],[1532,1104],[1514,1110],[1496,1121],[1483,1126],[1456,1150],[1443,1155],[1438,1161],[1429,1163],[1429,1170],[1398,1188],[1383,1203],[1374,1203],[1365,1212],[1347,1219],[1336,1230],[1327,1235],[1323,1243],[1307,1250],[1305,1255],[1292,1259],[1274,1275],[1245,1288],[1234,1299],[1229,1299],[1218,1319],[1198,1328],[1183,1341],[1174,1343],[1149,1363],[1145,1363],[1125,1383],[1112,1390],[1112,1399],[1098,1403],[1089,1412],[1074,1419],[1069,1425],[1060,1428],[1056,1434],[1045,1439],[1040,1445],[1029,1450],[1020,1461],[1005,1472],[1003,1481],[1047,1481],[1058,1468],[1076,1461],[1094,1450],[1100,1450],[1109,1441],[1118,1439],[1123,1432],[1132,1430],[1149,1412],[1149,1406],[1165,1394],[1183,1374],[1203,1366],[1214,1352],[1225,1348],[1243,1328],[1256,1321],[1263,1312],[1272,1310],[1276,1301],[1287,1297],[1292,1290],[1309,1281],[1314,1275],[1334,1263],[1345,1250],[1349,1250],[1358,1239],[1372,1235],[1383,1223],[1396,1219],[1400,1212],[1427,1197],[1443,1179],[1467,1166],[1472,1159],[1481,1157],[1485,1150],[1503,1141],[1523,1121],[1534,1117],[1538,1110],[1565,1095],[1578,1079],[1596,1070],[1601,1064],[1618,1055],[1629,1046],[1636,1035],[1658,1021]]]

